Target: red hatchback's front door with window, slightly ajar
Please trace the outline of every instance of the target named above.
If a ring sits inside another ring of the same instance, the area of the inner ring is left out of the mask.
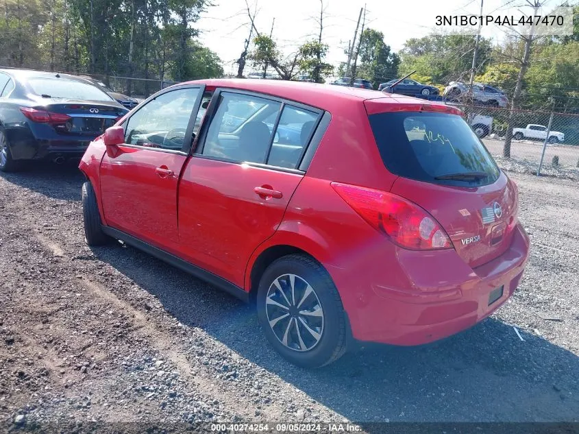
[[[151,99],[125,121],[125,144],[100,168],[106,224],[177,252],[177,184],[188,158],[204,86],[183,86]]]

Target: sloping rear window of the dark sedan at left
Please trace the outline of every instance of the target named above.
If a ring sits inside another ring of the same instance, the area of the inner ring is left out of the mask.
[[[31,78],[28,85],[36,95],[52,98],[90,99],[93,101],[114,101],[110,96],[92,84],[62,78]]]

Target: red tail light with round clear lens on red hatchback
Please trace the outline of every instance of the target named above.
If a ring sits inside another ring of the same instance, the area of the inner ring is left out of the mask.
[[[412,250],[452,248],[440,224],[417,204],[380,190],[332,182],[340,197],[370,226],[400,247]]]

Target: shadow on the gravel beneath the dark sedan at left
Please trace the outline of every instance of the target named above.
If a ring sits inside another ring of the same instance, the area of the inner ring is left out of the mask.
[[[78,169],[78,160],[58,165],[51,161],[27,162],[23,170],[16,173],[1,173],[0,176],[25,189],[36,191],[58,200],[81,200],[84,175]]]

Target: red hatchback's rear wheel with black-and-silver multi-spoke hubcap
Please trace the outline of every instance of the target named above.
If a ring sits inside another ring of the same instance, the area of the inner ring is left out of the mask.
[[[260,279],[256,303],[267,340],[291,363],[321,367],[346,352],[348,323],[340,295],[330,274],[310,256],[273,261]]]

